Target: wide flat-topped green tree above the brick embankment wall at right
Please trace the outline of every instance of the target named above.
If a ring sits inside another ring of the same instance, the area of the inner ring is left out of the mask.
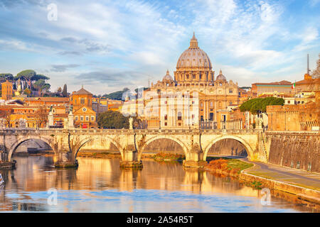
[[[284,99],[276,97],[249,99],[240,106],[240,111],[250,111],[251,114],[267,114],[267,106],[284,105]]]

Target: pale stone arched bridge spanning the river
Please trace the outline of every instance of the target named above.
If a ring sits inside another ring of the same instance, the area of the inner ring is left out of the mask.
[[[142,167],[141,156],[149,143],[158,139],[174,140],[186,155],[185,167],[203,167],[211,146],[224,139],[238,140],[247,150],[249,160],[267,162],[265,133],[247,130],[198,129],[4,129],[0,130],[0,161],[3,166],[14,165],[12,156],[26,140],[42,140],[55,154],[55,167],[78,166],[77,155],[89,141],[112,143],[121,154],[123,167]]]

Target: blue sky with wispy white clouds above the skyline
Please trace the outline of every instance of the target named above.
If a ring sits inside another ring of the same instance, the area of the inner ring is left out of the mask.
[[[173,75],[194,31],[216,75],[294,82],[307,53],[316,66],[319,11],[320,0],[0,0],[0,73],[33,69],[69,92],[146,87]]]

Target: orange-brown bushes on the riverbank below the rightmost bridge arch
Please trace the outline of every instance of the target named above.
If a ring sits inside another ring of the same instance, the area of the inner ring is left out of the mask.
[[[238,176],[241,170],[252,166],[253,164],[242,162],[238,159],[219,158],[218,160],[211,160],[206,166],[206,169],[230,176]]]

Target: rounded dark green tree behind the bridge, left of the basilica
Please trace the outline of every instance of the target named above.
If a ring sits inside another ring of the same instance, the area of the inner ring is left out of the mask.
[[[101,128],[129,128],[129,117],[119,111],[106,111],[98,114],[97,124]]]

